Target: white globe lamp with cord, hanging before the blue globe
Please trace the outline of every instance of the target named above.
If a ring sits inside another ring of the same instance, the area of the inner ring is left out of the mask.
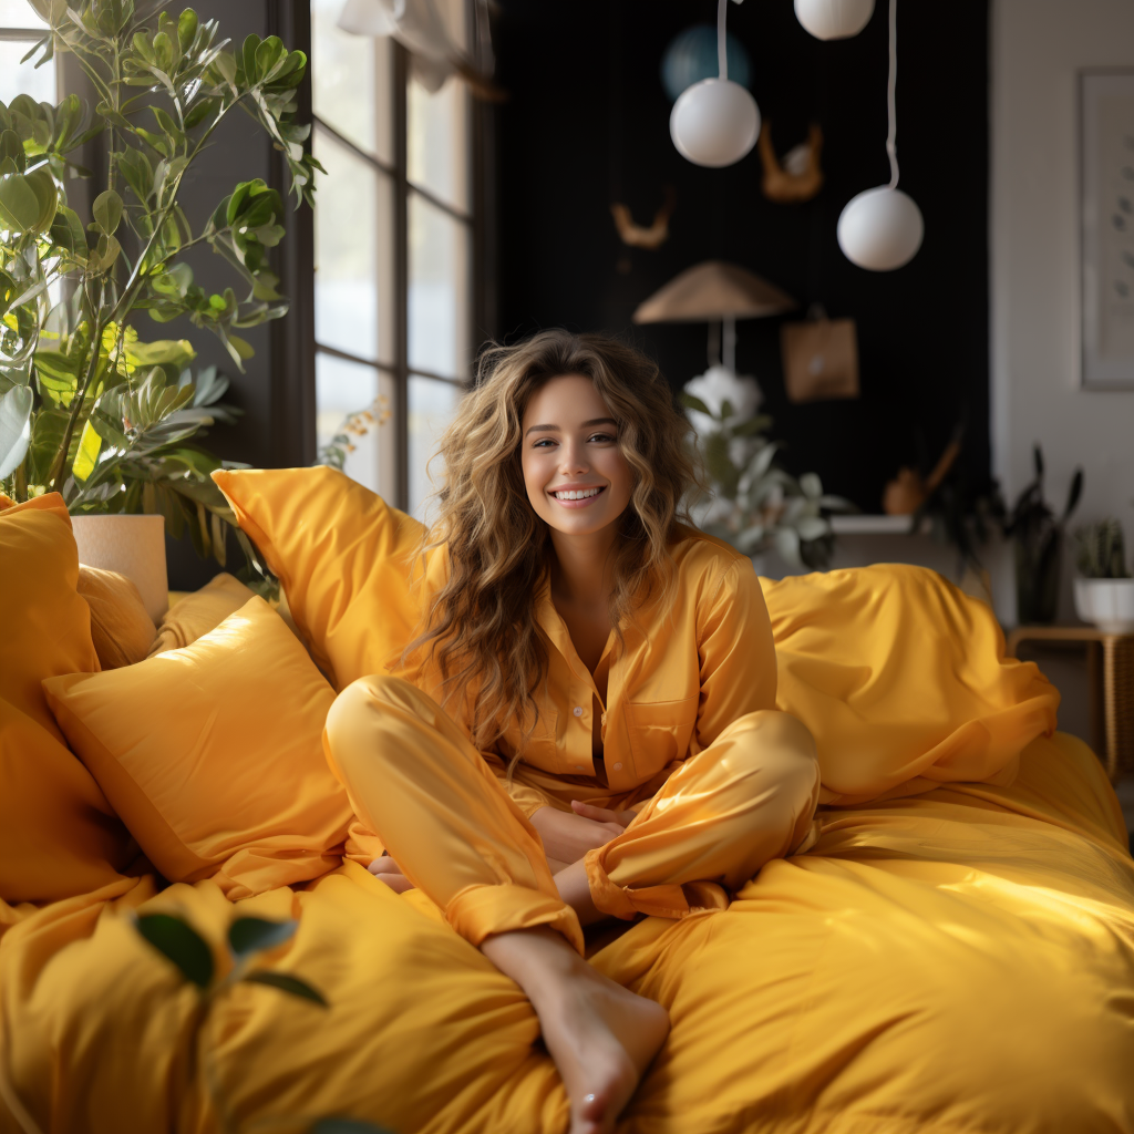
[[[706,78],[679,95],[669,116],[669,135],[677,152],[696,166],[720,169],[738,162],[760,136],[756,100],[728,77],[725,16],[728,0],[717,9],[719,78]]]

